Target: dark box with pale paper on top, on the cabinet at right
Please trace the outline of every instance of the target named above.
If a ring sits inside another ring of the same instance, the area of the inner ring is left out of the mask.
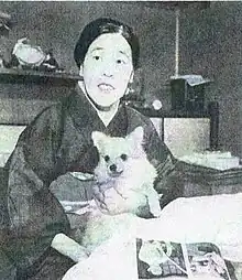
[[[172,109],[190,112],[205,110],[205,89],[211,83],[200,75],[177,75],[170,77]]]

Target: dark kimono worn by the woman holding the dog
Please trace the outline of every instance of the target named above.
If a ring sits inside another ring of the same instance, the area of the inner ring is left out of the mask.
[[[182,192],[174,169],[176,161],[148,118],[133,108],[121,104],[106,127],[77,89],[63,103],[42,111],[23,131],[6,165],[8,237],[2,241],[2,250],[18,268],[18,280],[26,279],[26,271],[35,273],[50,254],[58,255],[51,249],[56,234],[70,234],[67,215],[50,191],[51,183],[70,171],[92,173],[98,162],[91,141],[94,130],[124,137],[138,126],[144,128],[144,149],[158,171],[155,189],[164,194],[164,206]],[[84,194],[80,200],[87,198]]]

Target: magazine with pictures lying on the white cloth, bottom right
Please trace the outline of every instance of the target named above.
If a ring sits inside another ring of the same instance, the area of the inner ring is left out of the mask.
[[[136,238],[139,279],[231,280],[219,248]]]

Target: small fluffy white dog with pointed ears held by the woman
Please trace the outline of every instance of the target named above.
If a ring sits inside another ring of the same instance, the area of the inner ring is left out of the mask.
[[[161,215],[160,195],[154,190],[157,173],[143,149],[143,128],[135,128],[125,138],[109,137],[99,131],[94,131],[91,137],[99,151],[99,164],[95,170],[98,182],[95,187],[96,200],[99,203],[106,200],[108,202],[111,189],[129,203],[127,211],[123,207],[109,208],[111,214],[122,212],[136,214],[136,208],[147,203],[153,216],[158,217]],[[144,197],[146,197],[145,201]]]

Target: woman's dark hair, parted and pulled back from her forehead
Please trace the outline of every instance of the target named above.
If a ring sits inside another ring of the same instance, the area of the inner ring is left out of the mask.
[[[133,67],[138,68],[140,57],[140,44],[136,35],[133,33],[133,30],[127,24],[109,18],[99,18],[95,21],[91,21],[84,28],[74,51],[74,58],[78,68],[84,63],[88,47],[99,35],[105,33],[118,32],[121,32],[122,36],[129,43],[132,51]]]

